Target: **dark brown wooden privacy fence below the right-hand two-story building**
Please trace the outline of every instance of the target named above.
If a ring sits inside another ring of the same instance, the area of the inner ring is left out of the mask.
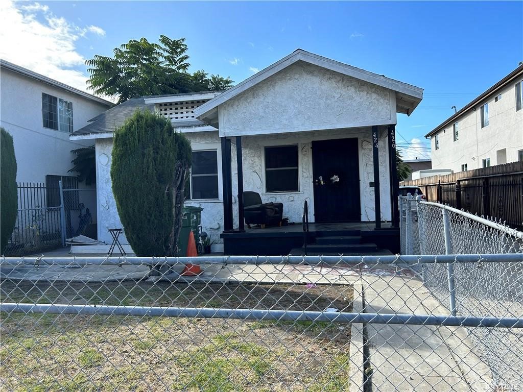
[[[523,228],[523,162],[425,177],[404,181],[402,185],[420,187],[428,201]]]

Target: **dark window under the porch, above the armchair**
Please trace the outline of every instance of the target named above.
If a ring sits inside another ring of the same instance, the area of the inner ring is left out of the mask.
[[[298,146],[265,147],[265,188],[267,192],[297,192]]]

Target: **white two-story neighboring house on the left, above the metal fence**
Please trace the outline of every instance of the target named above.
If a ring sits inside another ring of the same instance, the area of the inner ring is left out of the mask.
[[[13,135],[17,182],[74,176],[71,150],[92,145],[70,140],[113,104],[5,60],[0,60],[0,122]]]

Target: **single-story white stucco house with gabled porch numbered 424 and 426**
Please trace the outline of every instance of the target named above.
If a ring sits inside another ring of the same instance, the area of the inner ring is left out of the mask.
[[[98,239],[110,243],[107,229],[121,227],[112,136],[137,108],[170,118],[190,140],[186,204],[203,207],[213,251],[225,242],[231,253],[228,238],[245,234],[238,188],[283,203],[291,223],[301,223],[308,201],[311,222],[373,222],[397,232],[396,113],[410,115],[422,97],[421,88],[299,49],[227,91],[130,99],[71,134],[96,145]]]

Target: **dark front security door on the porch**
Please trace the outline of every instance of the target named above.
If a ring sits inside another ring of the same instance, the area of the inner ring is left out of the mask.
[[[312,142],[314,222],[361,220],[358,139]]]

